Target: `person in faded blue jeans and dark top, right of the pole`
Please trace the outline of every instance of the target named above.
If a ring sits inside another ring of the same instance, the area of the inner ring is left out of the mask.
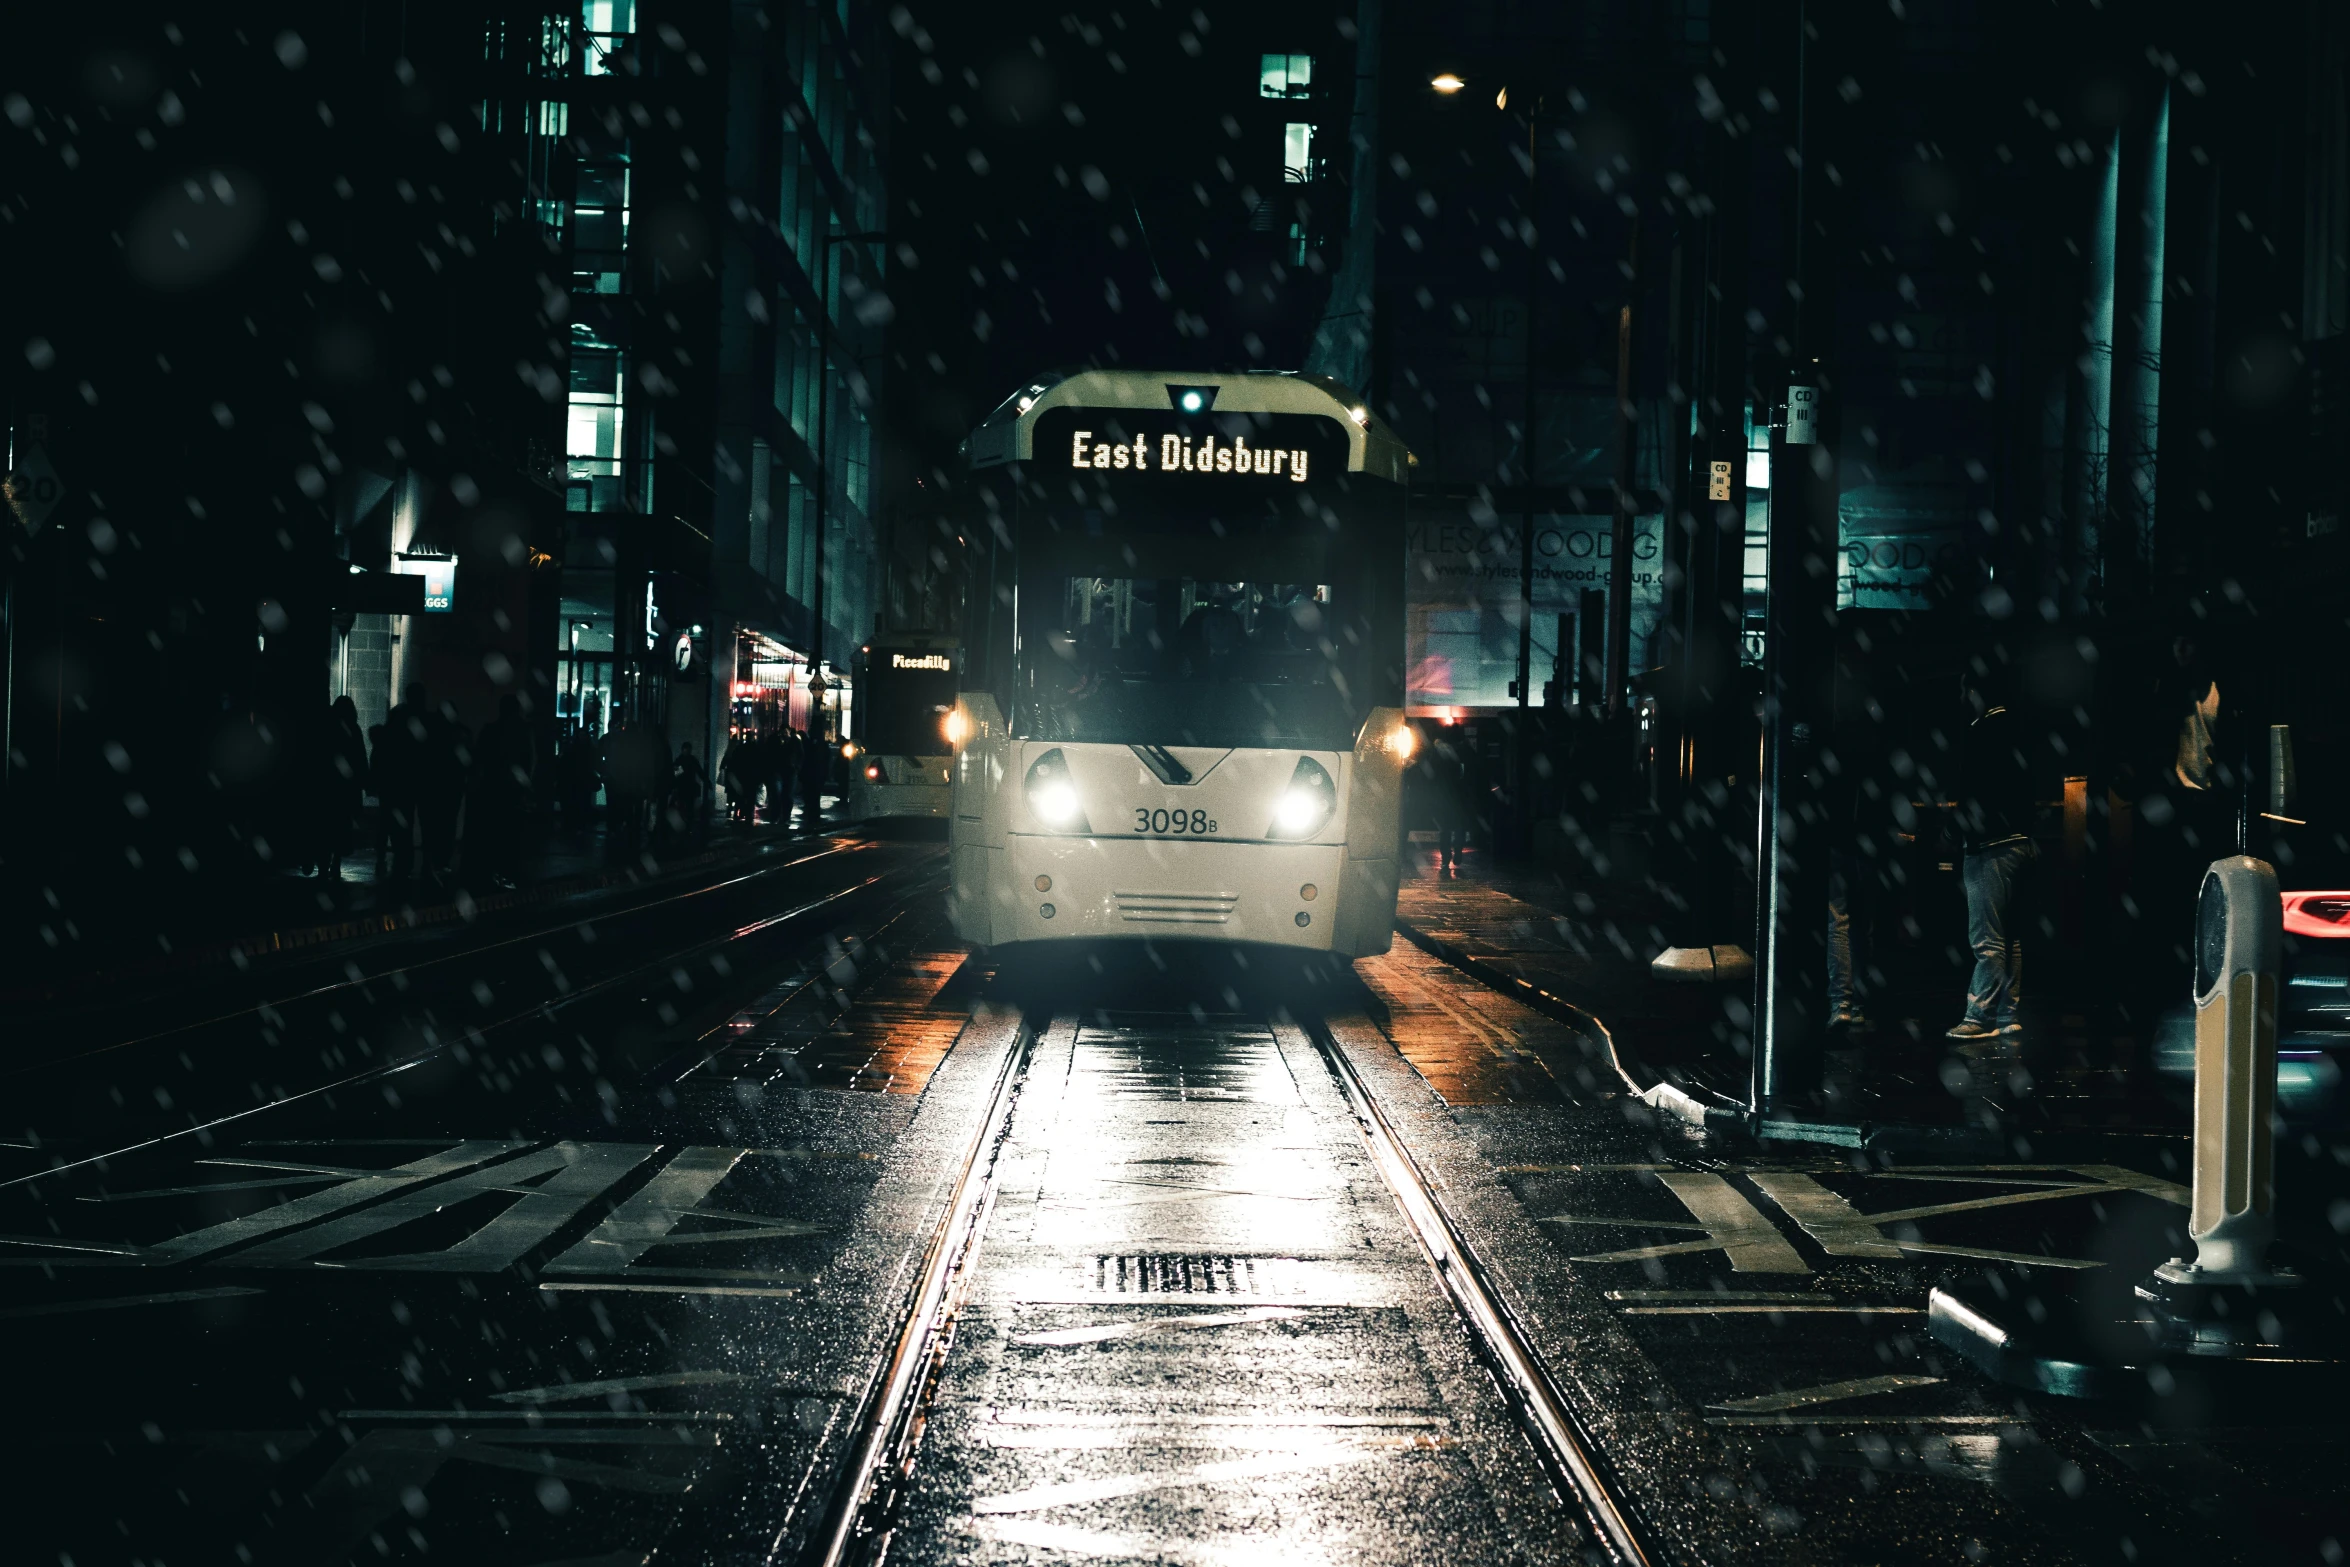
[[[2030,773],[2016,714],[1995,700],[1990,679],[1979,672],[1960,677],[1960,698],[1974,719],[1958,747],[1960,872],[1974,980],[1967,984],[1967,1015],[1950,1027],[1950,1038],[1986,1043],[2023,1034],[2016,886],[2040,848],[2030,839]]]

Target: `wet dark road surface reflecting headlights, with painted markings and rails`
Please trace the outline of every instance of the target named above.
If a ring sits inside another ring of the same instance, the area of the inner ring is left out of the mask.
[[[1462,1273],[1647,1560],[2343,1532],[2331,1405],[2019,1398],[1925,1334],[1934,1283],[2176,1250],[2183,1144],[1701,1144],[1417,949],[999,973],[938,869],[801,846],[42,1022],[0,1186],[9,1560],[1629,1560]]]

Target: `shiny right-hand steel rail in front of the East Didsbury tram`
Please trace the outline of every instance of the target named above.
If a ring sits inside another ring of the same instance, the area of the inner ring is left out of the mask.
[[[1462,1238],[1452,1215],[1445,1212],[1419,1163],[1403,1146],[1394,1125],[1389,1125],[1386,1111],[1379,1109],[1370,1085],[1363,1083],[1354,1062],[1347,1060],[1347,1048],[1318,1022],[1304,1031],[1330,1064],[1330,1076],[1337,1078],[1356,1125],[1363,1130],[1363,1142],[1370,1144],[1372,1163],[1396,1193],[1405,1222],[1429,1255],[1429,1266],[1436,1269],[1436,1278],[1443,1283],[1445,1294],[1452,1299],[1462,1323],[1502,1384],[1511,1412],[1518,1414],[1520,1424],[1535,1438],[1537,1450],[1551,1459],[1556,1473],[1582,1504],[1586,1525],[1605,1544],[1610,1558],[1619,1567],[1652,1567],[1659,1555],[1643,1544],[1643,1529],[1636,1527],[1631,1506],[1617,1497],[1617,1487],[1598,1459],[1596,1442],[1558,1395],[1549,1372],[1542,1370],[1539,1356],[1528,1346],[1525,1334],[1511,1318],[1509,1306],[1485,1283],[1483,1264]]]

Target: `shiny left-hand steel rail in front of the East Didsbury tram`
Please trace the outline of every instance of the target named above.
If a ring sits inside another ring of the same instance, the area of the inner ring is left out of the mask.
[[[971,1264],[978,1259],[980,1236],[987,1215],[994,1210],[996,1154],[1010,1135],[1013,1104],[1020,1099],[1020,1083],[1027,1076],[1027,1057],[1036,1031],[1022,1017],[1013,1041],[996,1067],[996,1085],[964,1149],[964,1161],[954,1177],[954,1193],[931,1233],[928,1252],[921,1262],[921,1278],[914,1285],[914,1302],[891,1346],[888,1365],[872,1386],[860,1412],[860,1433],[848,1468],[834,1487],[832,1522],[822,1536],[822,1548],[806,1560],[820,1567],[844,1567],[870,1558],[867,1546],[886,1539],[886,1527],[877,1515],[886,1515],[888,1497],[881,1497],[884,1468],[900,1473],[912,1457],[914,1438],[921,1431],[926,1391],[945,1365],[954,1337],[954,1320],[971,1283]]]

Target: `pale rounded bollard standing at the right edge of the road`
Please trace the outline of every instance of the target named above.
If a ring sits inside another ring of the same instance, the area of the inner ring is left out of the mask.
[[[2284,900],[2265,860],[2214,860],[2195,897],[2195,1196],[2193,1262],[2164,1285],[2289,1285],[2268,1266],[2275,1238],[2277,977]]]

